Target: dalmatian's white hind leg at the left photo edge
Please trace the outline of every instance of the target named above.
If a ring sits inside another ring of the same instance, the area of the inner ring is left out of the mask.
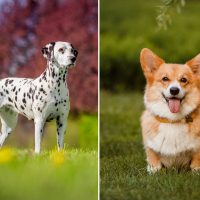
[[[8,135],[16,127],[18,114],[12,111],[8,107],[3,107],[0,110],[0,119],[1,119],[0,147],[2,147]]]

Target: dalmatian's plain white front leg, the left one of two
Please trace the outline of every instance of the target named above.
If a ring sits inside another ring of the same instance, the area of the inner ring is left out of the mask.
[[[41,118],[39,118],[35,119],[34,122],[35,122],[35,153],[40,153],[44,121]]]

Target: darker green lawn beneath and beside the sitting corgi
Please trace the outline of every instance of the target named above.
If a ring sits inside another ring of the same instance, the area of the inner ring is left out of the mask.
[[[101,92],[101,200],[195,200],[200,176],[190,171],[146,172],[141,93]]]

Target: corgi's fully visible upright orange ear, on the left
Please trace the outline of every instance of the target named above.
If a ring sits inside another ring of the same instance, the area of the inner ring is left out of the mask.
[[[140,63],[146,78],[152,74],[163,64],[165,61],[159,56],[154,54],[150,49],[144,48],[140,53]]]

